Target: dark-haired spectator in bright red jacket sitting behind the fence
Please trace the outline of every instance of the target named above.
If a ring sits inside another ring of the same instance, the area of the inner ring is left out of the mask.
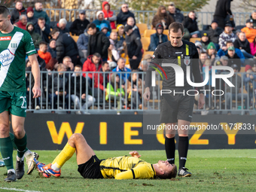
[[[94,53],[93,55],[87,56],[87,60],[83,65],[83,72],[99,72],[99,69],[102,68],[102,58],[99,53]],[[92,86],[93,76],[96,73],[86,73],[83,74],[84,78],[88,79],[88,83]],[[94,78],[95,80],[95,78]]]

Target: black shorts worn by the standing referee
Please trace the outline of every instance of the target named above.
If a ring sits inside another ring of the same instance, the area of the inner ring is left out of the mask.
[[[194,90],[194,88],[163,87],[163,90],[171,90],[172,93],[162,93],[160,103],[160,123],[177,123],[178,120],[187,120],[191,122],[195,96],[187,96],[187,90]],[[195,93],[190,91],[188,94],[194,95]]]

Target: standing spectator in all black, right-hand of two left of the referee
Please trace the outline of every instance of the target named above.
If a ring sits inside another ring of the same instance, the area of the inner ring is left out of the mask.
[[[142,42],[136,32],[133,32],[133,26],[125,26],[125,41],[131,69],[138,69],[139,62],[142,60]]]

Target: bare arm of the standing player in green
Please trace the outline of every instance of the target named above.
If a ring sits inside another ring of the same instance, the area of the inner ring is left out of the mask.
[[[33,98],[38,98],[41,96],[41,88],[40,88],[40,69],[38,65],[38,59],[36,58],[35,54],[29,56],[29,61],[32,64],[32,74],[35,78],[35,85],[32,89],[34,94]]]

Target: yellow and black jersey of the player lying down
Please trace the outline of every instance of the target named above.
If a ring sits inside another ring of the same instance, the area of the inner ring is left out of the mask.
[[[112,157],[99,164],[104,178],[130,179],[154,178],[156,172],[151,163],[137,157]]]

